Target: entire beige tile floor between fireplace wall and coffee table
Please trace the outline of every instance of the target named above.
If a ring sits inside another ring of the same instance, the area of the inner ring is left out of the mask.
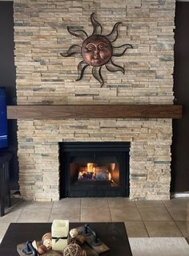
[[[13,199],[0,217],[0,239],[10,222],[124,221],[129,237],[189,237],[189,198],[131,201],[127,198],[65,198],[55,202]],[[188,239],[187,239],[188,240]]]

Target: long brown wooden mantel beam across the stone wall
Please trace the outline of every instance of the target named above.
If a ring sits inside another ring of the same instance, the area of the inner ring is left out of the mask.
[[[8,119],[181,118],[181,105],[8,105]]]

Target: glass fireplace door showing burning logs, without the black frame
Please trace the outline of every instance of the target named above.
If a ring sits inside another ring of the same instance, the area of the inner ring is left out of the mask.
[[[70,185],[119,186],[119,159],[115,154],[96,153],[91,157],[71,158]]]

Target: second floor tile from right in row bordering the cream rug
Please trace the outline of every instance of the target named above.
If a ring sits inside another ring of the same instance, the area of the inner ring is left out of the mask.
[[[183,237],[174,221],[144,221],[149,237]]]

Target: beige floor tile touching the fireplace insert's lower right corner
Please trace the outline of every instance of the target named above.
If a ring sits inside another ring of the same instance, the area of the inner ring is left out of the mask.
[[[136,208],[136,203],[133,200],[130,200],[128,198],[123,198],[123,197],[111,197],[108,198],[108,203],[110,208],[128,208],[128,207],[135,207]]]

